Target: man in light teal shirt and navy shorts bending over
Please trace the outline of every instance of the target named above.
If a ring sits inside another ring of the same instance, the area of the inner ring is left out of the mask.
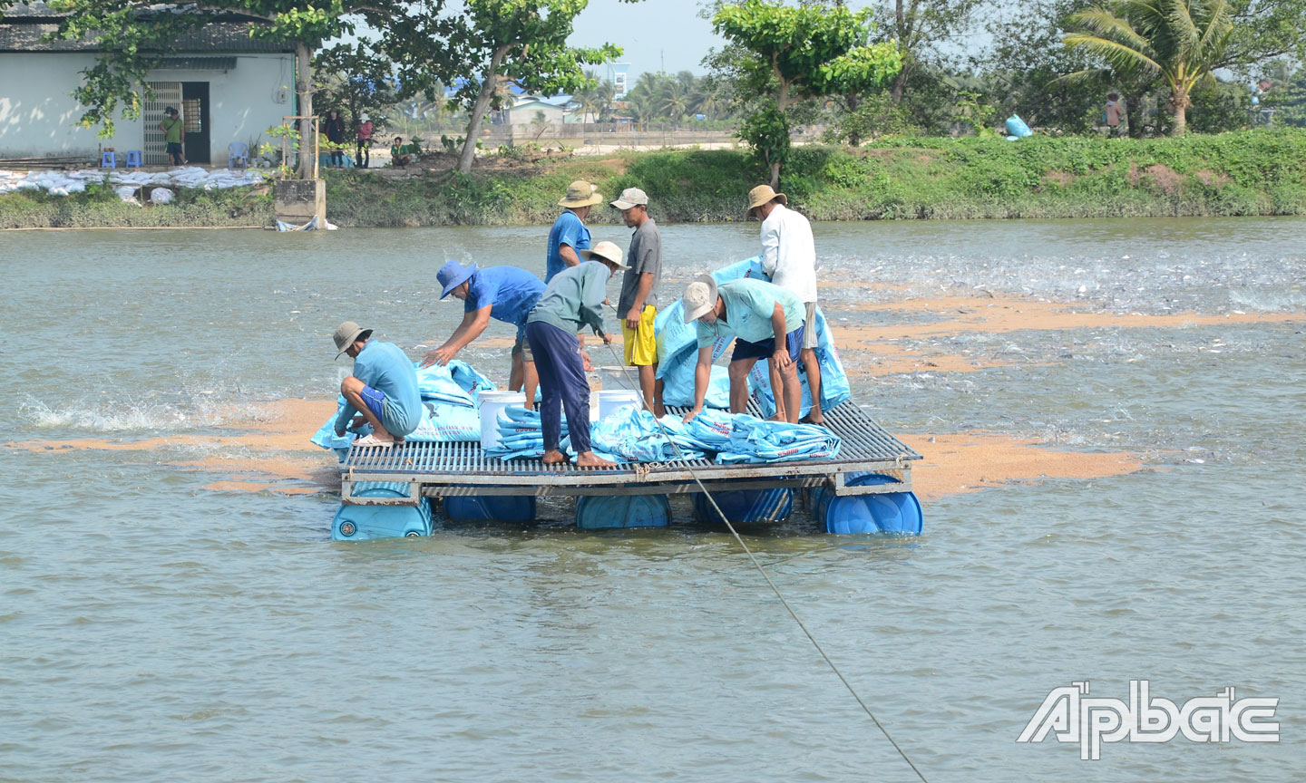
[[[803,339],[803,303],[788,288],[755,278],[717,283],[700,274],[684,288],[684,322],[693,324],[699,337],[699,364],[693,368],[693,410],[688,422],[703,411],[712,378],[712,345],[718,337],[734,337],[730,355],[730,412],[742,414],[748,406],[748,372],[757,359],[768,358],[778,369],[772,397],[776,419],[794,424],[802,388],[798,385],[798,351]]]

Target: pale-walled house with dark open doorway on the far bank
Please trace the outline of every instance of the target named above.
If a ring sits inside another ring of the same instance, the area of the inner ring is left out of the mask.
[[[192,163],[226,163],[227,145],[252,144],[295,112],[291,44],[249,38],[259,23],[240,14],[223,17],[178,40],[150,72],[154,99],[141,117],[116,116],[112,138],[82,128],[82,107],[72,91],[97,60],[94,40],[44,42],[61,14],[42,3],[14,4],[0,18],[0,158],[85,155],[101,147],[142,150],[146,166],[166,166],[163,110],[185,120],[185,157]]]

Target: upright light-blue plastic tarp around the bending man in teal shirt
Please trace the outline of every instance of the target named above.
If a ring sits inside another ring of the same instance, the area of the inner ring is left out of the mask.
[[[718,283],[741,278],[768,279],[761,271],[761,256],[754,256],[724,266],[712,273],[712,278]],[[821,408],[829,410],[852,397],[852,388],[844,364],[838,359],[838,348],[835,347],[833,334],[825,322],[820,307],[816,308],[816,360],[820,363],[821,378]],[[811,325],[808,325],[811,326]],[[679,299],[671,307],[657,315],[654,322],[657,333],[658,372],[663,381],[662,398],[667,405],[693,405],[693,367],[699,360],[697,334],[692,324],[684,322],[684,309]],[[712,359],[720,359],[730,346],[729,337],[718,338],[712,346]],[[720,372],[718,372],[720,371]],[[724,380],[721,380],[724,378]],[[799,373],[802,382],[803,402],[801,416],[806,416],[811,410],[811,390],[807,388],[806,373]],[[724,384],[724,393],[722,393]],[[748,373],[748,390],[756,397],[761,412],[772,416],[776,412],[776,399],[771,392],[771,378],[767,373],[767,363],[757,361],[752,372]],[[730,380],[725,368],[713,367],[705,407],[730,407]]]

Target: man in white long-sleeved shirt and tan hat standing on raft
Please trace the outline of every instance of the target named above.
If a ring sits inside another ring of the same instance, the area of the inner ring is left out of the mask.
[[[807,389],[812,394],[812,408],[803,418],[808,424],[824,424],[820,408],[820,363],[816,361],[816,243],[807,218],[786,207],[789,198],[776,193],[771,185],[757,185],[748,191],[748,217],[761,221],[761,270],[771,282],[798,295],[806,307],[803,345],[799,360],[807,373]],[[772,376],[777,375],[774,367]],[[772,388],[776,377],[772,377]],[[780,399],[777,407],[782,407]],[[784,418],[784,411],[781,411]]]

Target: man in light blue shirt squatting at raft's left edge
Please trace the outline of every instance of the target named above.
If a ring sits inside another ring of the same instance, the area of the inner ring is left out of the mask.
[[[372,425],[372,435],[354,441],[357,446],[393,446],[396,440],[417,429],[422,422],[422,395],[417,390],[413,363],[394,343],[372,339],[372,330],[354,321],[336,328],[336,358],[349,354],[354,372],[341,381],[345,407],[336,416],[336,435],[362,422]]]

